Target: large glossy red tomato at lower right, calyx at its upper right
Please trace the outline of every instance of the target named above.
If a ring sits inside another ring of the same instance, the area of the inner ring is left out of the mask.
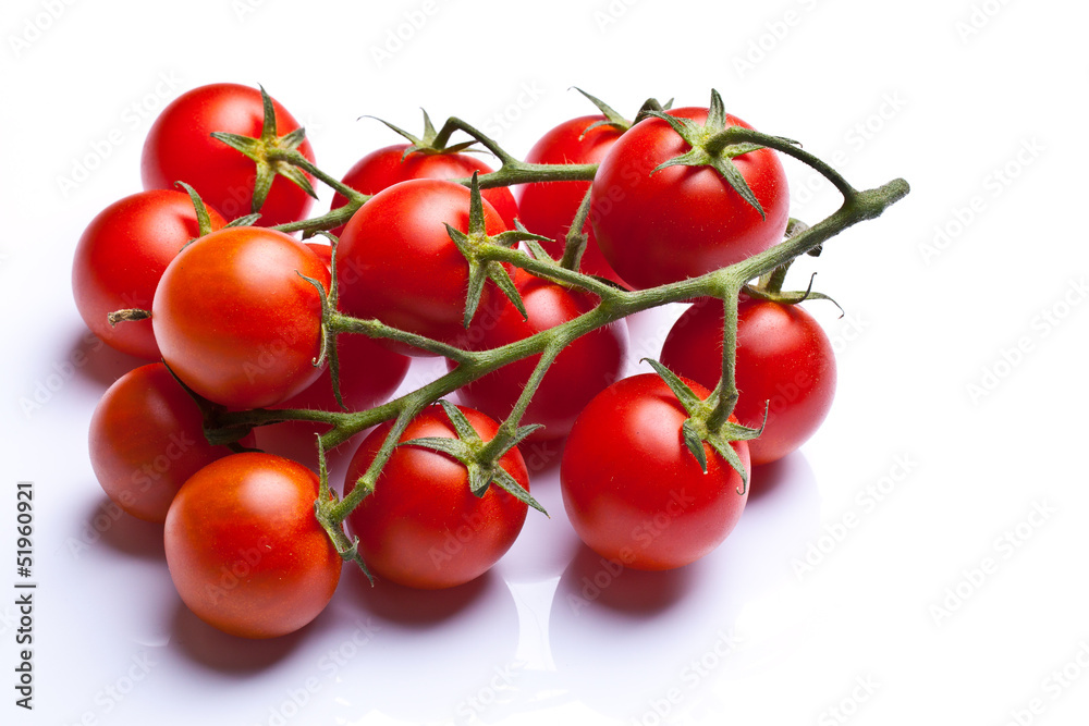
[[[684,382],[700,398],[710,394]],[[714,550],[737,524],[748,488],[708,444],[703,473],[684,442],[686,419],[665,382],[643,373],[599,393],[575,421],[560,464],[563,505],[602,557],[672,569]],[[746,442],[732,445],[750,470]]]

